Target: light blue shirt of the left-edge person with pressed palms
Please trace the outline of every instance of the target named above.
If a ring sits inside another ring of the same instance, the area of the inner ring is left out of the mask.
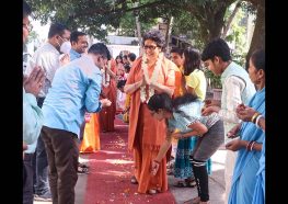
[[[23,88],[23,141],[28,146],[26,154],[35,152],[37,138],[43,125],[43,114],[36,98]]]

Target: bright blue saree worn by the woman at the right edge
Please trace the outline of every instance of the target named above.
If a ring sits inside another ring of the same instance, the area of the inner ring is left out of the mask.
[[[251,99],[249,106],[265,115],[265,88],[257,91]],[[265,133],[251,122],[243,122],[240,129],[240,139],[264,141]],[[261,151],[247,151],[242,148],[238,151],[229,204],[251,204],[256,184],[256,173],[260,169]]]

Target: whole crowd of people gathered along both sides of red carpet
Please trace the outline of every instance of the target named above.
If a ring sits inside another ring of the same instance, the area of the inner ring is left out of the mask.
[[[31,13],[23,1],[23,43]],[[224,203],[265,203],[265,50],[254,50],[245,70],[221,38],[169,56],[160,31],[141,42],[140,56],[114,59],[104,43],[89,45],[84,32],[51,23],[23,68],[23,204],[73,204],[78,173],[89,173],[79,155],[100,149],[116,115],[129,124],[139,193],[168,191],[173,156],[175,186],[198,192],[185,203],[210,203],[210,158],[224,145]],[[220,101],[207,100],[204,67],[221,76]]]

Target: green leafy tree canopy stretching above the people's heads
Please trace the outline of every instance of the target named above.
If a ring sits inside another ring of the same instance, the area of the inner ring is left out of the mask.
[[[251,47],[260,45],[265,47],[263,33],[265,1],[245,1],[251,2],[254,10],[257,10],[254,36],[255,33],[261,34],[261,37],[253,36]],[[146,29],[153,24],[157,18],[169,21],[173,16],[172,32],[180,33],[186,30],[196,43],[204,45],[211,38],[221,36],[227,23],[227,10],[237,0],[27,0],[27,2],[34,10],[35,19],[41,20],[43,24],[48,20],[62,22],[70,30],[81,29],[99,39],[104,39],[112,30],[133,34],[129,25],[134,25],[135,15],[139,16],[141,24],[147,25]],[[189,27],[191,25],[193,26]]]

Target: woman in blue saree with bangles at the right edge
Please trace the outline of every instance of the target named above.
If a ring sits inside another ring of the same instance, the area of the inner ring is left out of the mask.
[[[264,50],[255,50],[249,64],[249,76],[252,82],[257,87],[257,92],[251,99],[247,106],[240,104],[237,107],[238,117],[244,122],[234,126],[228,133],[229,137],[240,135],[240,139],[231,140],[226,145],[227,149],[238,151],[228,202],[230,204],[252,203],[257,178],[256,174],[260,173],[260,177],[262,177],[263,171],[265,174],[265,159],[261,159],[263,156],[265,158],[265,150],[263,149],[261,152],[265,138],[265,132],[263,131],[265,129]],[[265,180],[262,181],[262,186],[265,188]]]

